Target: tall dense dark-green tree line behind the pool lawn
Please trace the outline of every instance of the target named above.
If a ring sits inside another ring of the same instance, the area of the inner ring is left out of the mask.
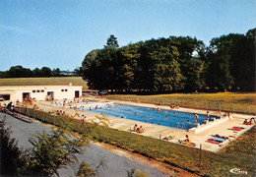
[[[229,33],[210,45],[169,36],[119,47],[110,35],[88,53],[80,75],[91,89],[141,91],[255,91],[255,31]]]

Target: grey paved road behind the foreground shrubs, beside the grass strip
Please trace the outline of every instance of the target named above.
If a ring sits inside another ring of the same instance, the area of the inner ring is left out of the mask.
[[[19,148],[32,148],[32,145],[28,141],[30,138],[32,138],[32,135],[41,133],[42,131],[49,132],[51,130],[49,127],[46,127],[39,122],[33,121],[31,124],[29,124],[4,113],[0,113],[0,120],[3,120],[5,115],[6,127],[11,126],[11,130],[13,131],[11,137],[19,141]],[[96,168],[96,165],[99,163],[100,159],[103,159],[107,165],[107,168],[99,168],[98,174],[100,177],[127,176],[127,170],[131,170],[132,168],[140,169],[149,176],[168,176],[162,174],[154,167],[149,166],[149,164],[145,164],[145,161],[144,164],[142,164],[138,161],[126,158],[125,156],[113,153],[105,148],[100,148],[95,144],[91,144],[91,147],[87,148],[85,155],[80,155],[78,158],[80,162],[84,160],[89,162],[93,168]],[[60,176],[75,176],[74,174],[77,171],[80,162],[76,163],[72,167],[68,167],[68,169],[60,169]]]

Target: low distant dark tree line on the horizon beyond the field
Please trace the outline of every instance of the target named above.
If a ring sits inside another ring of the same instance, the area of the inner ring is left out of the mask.
[[[24,68],[20,65],[11,67],[6,72],[0,72],[0,78],[40,78],[40,77],[62,77],[60,69],[56,68],[51,70],[48,67],[42,67],[41,69],[35,68],[31,70]]]

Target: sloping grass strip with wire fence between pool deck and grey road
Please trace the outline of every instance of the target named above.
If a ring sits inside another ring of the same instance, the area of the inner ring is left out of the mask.
[[[226,169],[230,169],[231,166],[236,165],[235,163],[238,160],[235,155],[227,153],[221,155],[202,150],[201,145],[200,149],[198,149],[172,144],[163,141],[161,135],[160,139],[153,139],[134,134],[131,129],[128,132],[124,132],[105,126],[97,126],[94,128],[93,124],[86,123],[85,126],[82,126],[81,120],[67,118],[65,116],[55,116],[41,110],[26,107],[20,107],[17,108],[17,110],[32,118],[56,126],[60,126],[63,120],[69,121],[73,131],[81,134],[90,133],[88,136],[98,142],[104,142],[118,148],[137,152],[201,175],[217,174],[218,176],[224,176],[228,174],[228,170]],[[85,129],[87,130],[85,131]],[[244,164],[245,169],[248,168],[246,166],[247,163],[244,162],[241,164]],[[242,168],[243,166],[239,167]]]

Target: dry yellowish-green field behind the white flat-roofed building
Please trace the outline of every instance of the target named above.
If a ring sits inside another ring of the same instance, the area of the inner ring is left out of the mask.
[[[83,86],[83,90],[89,90],[87,82],[81,77],[0,79],[0,86],[57,86],[69,85],[70,83],[73,86]]]

